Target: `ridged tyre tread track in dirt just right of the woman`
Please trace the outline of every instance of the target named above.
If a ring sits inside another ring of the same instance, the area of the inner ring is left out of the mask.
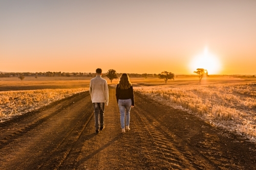
[[[141,138],[146,141],[148,147],[152,150],[148,153],[148,159],[156,157],[153,166],[159,168],[173,169],[219,169],[217,165],[209,161],[200,153],[189,147],[182,139],[178,139],[176,135],[166,131],[160,126],[156,119],[150,118],[146,111],[137,108],[136,124],[142,125],[144,134]],[[144,127],[144,128],[143,128]]]

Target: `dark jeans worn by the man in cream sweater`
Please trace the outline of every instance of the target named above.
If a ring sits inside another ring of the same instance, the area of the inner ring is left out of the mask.
[[[95,117],[95,130],[99,130],[99,126],[104,126],[105,103],[93,103],[93,108]]]

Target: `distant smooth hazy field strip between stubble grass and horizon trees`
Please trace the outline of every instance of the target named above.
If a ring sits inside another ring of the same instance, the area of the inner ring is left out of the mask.
[[[84,88],[89,87],[92,77],[45,77],[27,76],[23,81],[18,77],[0,78],[0,91],[8,90],[34,90],[34,89],[67,89],[67,88]],[[108,78],[104,78],[109,84],[117,84],[118,79],[114,79],[112,83]],[[182,85],[198,85],[196,76],[175,76],[175,81],[168,80],[165,84],[163,80],[156,77],[148,77],[147,79],[139,77],[131,77],[131,82],[134,86],[182,86]],[[253,83],[256,79],[238,79],[229,76],[210,76],[207,79],[202,79],[201,85],[207,84],[233,84],[233,83]]]

